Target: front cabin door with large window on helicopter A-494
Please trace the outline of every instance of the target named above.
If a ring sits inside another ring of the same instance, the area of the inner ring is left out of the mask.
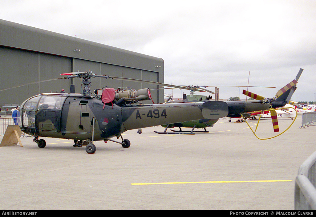
[[[39,130],[60,131],[61,111],[65,96],[43,96],[36,114]]]

